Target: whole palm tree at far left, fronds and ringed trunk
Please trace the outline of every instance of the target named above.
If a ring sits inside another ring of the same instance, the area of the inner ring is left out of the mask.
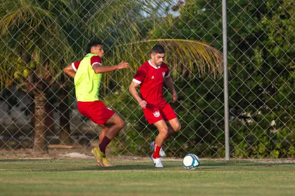
[[[36,1],[9,0],[1,2],[1,67],[5,85],[19,84],[19,88],[32,93],[35,105],[33,151],[48,152],[46,142],[46,93],[51,90],[55,75],[60,70],[60,59],[68,58],[70,47],[52,13],[53,1],[42,6]],[[65,7],[62,1],[56,6]],[[7,59],[11,59],[8,61]]]

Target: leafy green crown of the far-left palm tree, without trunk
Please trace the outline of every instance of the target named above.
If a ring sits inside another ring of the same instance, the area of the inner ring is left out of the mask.
[[[56,9],[49,9],[54,4],[62,10],[64,6],[62,3],[65,3],[65,0],[58,4],[60,2],[9,0],[5,2],[5,6],[1,6],[0,15],[3,23],[0,26],[3,27],[1,28],[3,32],[0,37],[0,56],[8,60],[2,61],[0,76],[5,85],[11,83],[9,78],[11,81],[18,80],[13,79],[14,73],[20,74],[22,79],[18,82],[23,83],[23,78],[27,75],[23,73],[24,70],[29,69],[42,75],[42,69],[30,68],[31,61],[41,67],[49,62],[48,70],[55,75],[65,66],[64,59],[73,56],[66,34],[59,25],[57,18],[59,12],[54,12]],[[8,71],[10,75],[7,75]]]

